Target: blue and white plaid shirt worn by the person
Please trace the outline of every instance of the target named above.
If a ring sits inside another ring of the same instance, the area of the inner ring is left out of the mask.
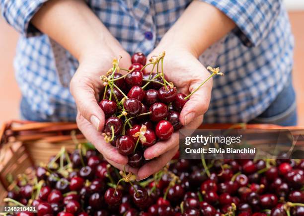
[[[14,61],[22,92],[21,113],[36,121],[74,121],[69,81],[78,66],[69,52],[30,20],[46,0],[1,0],[6,21],[21,33]],[[200,56],[220,67],[205,122],[247,122],[261,114],[291,78],[294,38],[281,0],[203,0],[236,28]],[[87,0],[130,53],[148,55],[190,0]],[[216,26],[215,26],[216,28]],[[197,35],[199,37],[199,35]]]

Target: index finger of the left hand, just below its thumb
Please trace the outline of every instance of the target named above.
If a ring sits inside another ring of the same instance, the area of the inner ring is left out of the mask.
[[[102,153],[105,158],[108,158],[115,163],[125,165],[128,163],[128,157],[120,154],[115,146],[104,141],[104,137],[94,130],[93,126],[84,119],[80,114],[76,118],[77,126],[84,137],[94,144],[96,149]]]

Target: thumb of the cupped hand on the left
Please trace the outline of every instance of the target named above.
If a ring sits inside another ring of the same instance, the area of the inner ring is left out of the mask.
[[[92,80],[87,74],[77,71],[71,80],[70,90],[81,116],[89,121],[95,130],[101,131],[105,116],[96,100],[99,91],[95,86],[96,80]]]

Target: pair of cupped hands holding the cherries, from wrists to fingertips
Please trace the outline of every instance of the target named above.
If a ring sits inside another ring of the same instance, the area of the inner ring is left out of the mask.
[[[147,61],[162,51],[165,51],[163,71],[178,92],[188,95],[209,77],[210,73],[198,61],[197,56],[182,47],[159,44],[147,57]],[[138,169],[128,166],[128,157],[121,155],[115,146],[104,141],[102,130],[105,115],[98,105],[104,88],[100,75],[105,75],[112,67],[113,58],[119,56],[122,57],[119,66],[129,68],[131,57],[119,46],[102,50],[93,48],[80,57],[79,67],[71,80],[71,93],[77,106],[76,122],[85,138],[95,145],[110,164],[121,170],[125,168],[141,180],[160,170],[175,155],[179,147],[179,133],[174,132],[169,140],[148,147],[144,152],[148,161]],[[150,70],[151,68],[146,68],[146,71]],[[183,129],[193,130],[202,124],[203,114],[209,106],[211,89],[212,80],[209,80],[191,95],[180,113]]]

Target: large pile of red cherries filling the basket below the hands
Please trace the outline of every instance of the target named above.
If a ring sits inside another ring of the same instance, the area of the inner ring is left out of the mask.
[[[304,159],[175,157],[141,182],[96,150],[61,151],[20,175],[5,202],[37,213],[7,216],[303,216]]]

